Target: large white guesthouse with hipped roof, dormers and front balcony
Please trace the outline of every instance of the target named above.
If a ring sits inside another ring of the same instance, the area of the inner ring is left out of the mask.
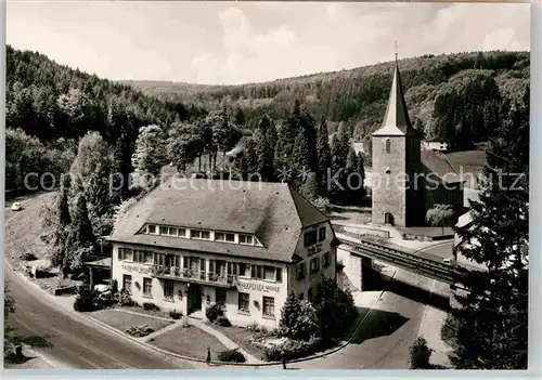
[[[276,327],[289,292],[335,278],[330,220],[285,183],[172,179],[116,224],[112,278],[184,315],[224,305],[232,324]]]

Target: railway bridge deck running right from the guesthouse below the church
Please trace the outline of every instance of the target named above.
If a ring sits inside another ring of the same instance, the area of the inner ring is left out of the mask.
[[[356,255],[382,261],[438,281],[455,286],[459,276],[463,273],[462,268],[442,262],[440,257],[427,253],[416,254],[415,252],[408,252],[406,250],[362,240],[361,238],[338,235],[340,235],[337,237],[341,241],[340,249],[343,250]]]

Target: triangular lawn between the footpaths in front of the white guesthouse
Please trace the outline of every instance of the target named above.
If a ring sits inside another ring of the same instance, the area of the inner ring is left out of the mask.
[[[207,348],[210,349],[212,361],[218,361],[218,353],[227,350],[218,339],[194,326],[178,327],[154,338],[150,343],[159,349],[202,361],[207,357]]]

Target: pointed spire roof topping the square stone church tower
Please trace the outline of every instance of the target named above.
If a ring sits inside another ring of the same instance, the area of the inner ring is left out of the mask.
[[[388,106],[384,116],[382,127],[373,133],[374,136],[400,136],[400,135],[420,135],[409,118],[406,102],[401,86],[401,75],[399,64],[396,60],[393,69],[393,80],[389,92]]]

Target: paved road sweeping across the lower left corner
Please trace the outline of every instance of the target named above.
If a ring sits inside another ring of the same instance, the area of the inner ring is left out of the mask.
[[[25,201],[31,202],[37,199]],[[22,211],[25,212],[25,211]],[[15,213],[4,211],[4,224]],[[78,317],[75,312],[52,304],[35,288],[4,265],[4,278],[16,310],[10,316],[11,325],[22,336],[46,336],[52,346],[38,349],[60,368],[194,368],[193,363],[156,353],[129,339],[118,337]]]

